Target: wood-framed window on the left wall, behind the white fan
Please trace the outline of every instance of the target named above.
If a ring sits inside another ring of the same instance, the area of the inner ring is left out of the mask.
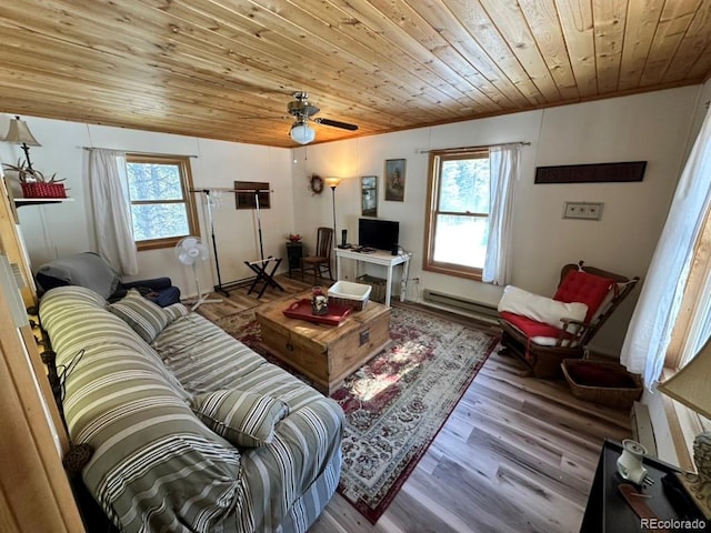
[[[139,250],[173,247],[198,233],[189,158],[128,153],[126,168]]]

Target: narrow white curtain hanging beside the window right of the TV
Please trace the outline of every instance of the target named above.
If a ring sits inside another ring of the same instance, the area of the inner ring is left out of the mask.
[[[521,172],[520,153],[519,143],[489,149],[489,240],[481,275],[485,283],[505,285],[511,276],[513,192]]]

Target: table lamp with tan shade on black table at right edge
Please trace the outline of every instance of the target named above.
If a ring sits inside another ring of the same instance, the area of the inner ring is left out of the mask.
[[[711,418],[711,340],[707,341],[684,368],[661,383],[658,390],[697,413]],[[693,442],[697,473],[684,472],[679,480],[707,519],[711,519],[711,431],[700,433]]]

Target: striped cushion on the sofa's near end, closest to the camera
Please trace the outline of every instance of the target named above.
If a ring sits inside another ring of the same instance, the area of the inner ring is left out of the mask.
[[[198,394],[192,409],[218,435],[243,447],[270,444],[274,425],[289,413],[281,400],[237,389]]]

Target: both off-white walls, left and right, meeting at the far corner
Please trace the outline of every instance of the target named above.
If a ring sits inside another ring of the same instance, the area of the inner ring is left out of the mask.
[[[360,215],[360,177],[379,177],[379,218],[398,220],[400,244],[414,253],[408,298],[419,300],[431,288],[473,300],[498,302],[501,289],[431,272],[423,272],[422,242],[427,194],[423,151],[438,148],[527,141],[522,150],[522,174],[517,187],[512,283],[542,294],[552,294],[560,266],[570,261],[625,275],[644,276],[661,231],[669,202],[698,130],[700,86],[624,98],[521,112],[348,141],[313,144],[294,150],[264,148],[169,135],[119,128],[86,125],[23,117],[42,143],[32,148],[34,167],[67,179],[72,203],[23,207],[22,231],[32,264],[81,250],[91,250],[92,238],[83,151],[94,145],[121,150],[194,154],[196,188],[232,187],[234,180],[269,181],[273,195],[270,210],[262,210],[264,254],[283,257],[286,235],[304,235],[307,248],[316,240],[318,225],[332,225],[332,194],[308,189],[309,177],[337,175],[343,182],[336,191],[337,238],[346,228],[357,242]],[[0,117],[7,131],[9,115]],[[317,127],[323,128],[323,127]],[[318,135],[318,131],[317,131]],[[0,160],[14,162],[19,147],[0,143]],[[382,189],[385,159],[407,160],[404,202],[385,202]],[[648,161],[642,182],[534,184],[537,165]],[[604,202],[601,221],[563,220],[564,201]],[[259,258],[253,211],[237,211],[233,199],[223,195],[214,210],[216,234],[222,282],[249,276],[244,260]],[[209,239],[203,223],[203,237]],[[191,276],[173,260],[172,250],[142,252],[140,276],[166,274],[184,292],[193,292]],[[283,270],[283,269],[282,269]],[[213,284],[204,269],[203,288]],[[214,270],[212,269],[212,274]],[[373,272],[378,274],[378,272]],[[353,276],[350,268],[342,274]],[[593,342],[593,348],[615,353],[622,344],[635,293],[613,315]]]

